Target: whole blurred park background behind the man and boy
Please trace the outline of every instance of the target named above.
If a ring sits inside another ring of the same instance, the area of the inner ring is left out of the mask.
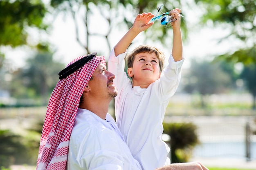
[[[184,16],[182,79],[163,123],[172,162],[256,170],[255,0],[0,0],[0,170],[35,169],[58,72],[93,51],[108,59],[137,14],[161,4]],[[148,44],[168,57],[164,27],[155,21],[128,51]]]

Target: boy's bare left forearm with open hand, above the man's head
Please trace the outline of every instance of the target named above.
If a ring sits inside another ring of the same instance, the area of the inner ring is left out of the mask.
[[[134,38],[141,32],[145,31],[151,27],[154,23],[148,23],[154,15],[151,12],[148,13],[139,13],[135,18],[132,27],[127,31],[127,33],[117,42],[115,46],[115,56],[122,54],[129,47],[130,43]]]

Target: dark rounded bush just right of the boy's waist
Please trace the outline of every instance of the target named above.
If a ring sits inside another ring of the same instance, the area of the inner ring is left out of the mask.
[[[199,144],[197,127],[193,123],[163,123],[164,133],[171,136],[172,163],[187,162],[195,145]]]

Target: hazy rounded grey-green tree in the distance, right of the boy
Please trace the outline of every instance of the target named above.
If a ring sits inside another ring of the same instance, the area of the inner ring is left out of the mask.
[[[191,60],[191,67],[184,74],[184,79],[184,91],[200,94],[201,107],[207,106],[210,94],[225,92],[232,85],[231,76],[216,62]]]

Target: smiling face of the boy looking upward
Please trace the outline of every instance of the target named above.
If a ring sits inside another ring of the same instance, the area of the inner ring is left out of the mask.
[[[155,53],[139,53],[135,55],[133,67],[128,68],[134,86],[151,84],[160,77],[159,60]]]

